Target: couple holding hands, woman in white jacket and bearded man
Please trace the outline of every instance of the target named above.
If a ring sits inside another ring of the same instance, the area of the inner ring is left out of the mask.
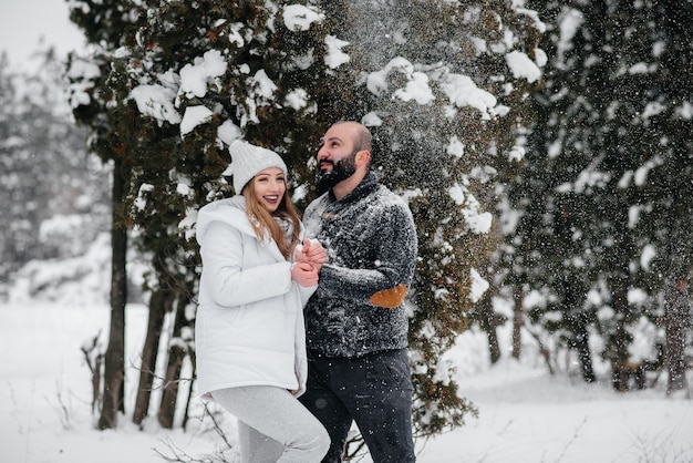
[[[359,123],[328,130],[327,193],[301,223],[281,157],[234,142],[236,196],[199,210],[198,390],[237,416],[244,463],[341,462],[352,420],[375,463],[415,461],[402,301],[416,232],[371,144]]]

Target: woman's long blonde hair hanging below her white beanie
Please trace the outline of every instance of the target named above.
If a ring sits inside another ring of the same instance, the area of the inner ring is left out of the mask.
[[[250,218],[250,225],[260,240],[266,239],[269,234],[269,237],[277,243],[283,257],[289,260],[293,248],[296,248],[299,241],[301,227],[300,217],[296,207],[293,207],[293,203],[291,203],[289,192],[283,192],[279,207],[270,214],[256,196],[255,188],[252,187],[254,183],[255,177],[251,178],[242,189],[242,195],[246,198],[246,213],[248,214],[248,218]],[[275,220],[275,217],[289,220],[293,225],[290,243],[287,241],[285,230],[279,226],[277,220]]]

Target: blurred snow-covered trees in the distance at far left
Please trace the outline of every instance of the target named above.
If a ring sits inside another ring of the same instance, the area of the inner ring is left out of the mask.
[[[105,173],[72,122],[62,63],[51,49],[37,54],[31,74],[0,58],[0,297],[27,263],[82,255],[107,227]]]

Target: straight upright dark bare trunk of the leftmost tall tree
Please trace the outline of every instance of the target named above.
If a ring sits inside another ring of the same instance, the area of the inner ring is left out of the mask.
[[[124,412],[125,395],[125,305],[127,301],[126,250],[127,229],[120,210],[125,196],[122,162],[115,158],[112,192],[111,225],[111,330],[104,356],[104,393],[99,429],[115,428],[117,413]]]

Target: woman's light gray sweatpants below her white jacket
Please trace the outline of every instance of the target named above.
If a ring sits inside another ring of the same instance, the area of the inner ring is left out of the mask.
[[[241,463],[319,463],[330,447],[320,421],[286,389],[247,385],[211,395],[238,419]]]

